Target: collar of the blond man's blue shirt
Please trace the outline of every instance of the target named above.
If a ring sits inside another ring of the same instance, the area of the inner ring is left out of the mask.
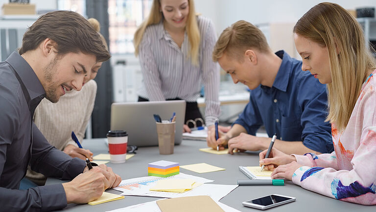
[[[290,79],[292,58],[283,50],[276,52],[276,54],[282,59],[282,63],[278,70],[276,79],[274,79],[273,87],[286,92],[288,81]]]

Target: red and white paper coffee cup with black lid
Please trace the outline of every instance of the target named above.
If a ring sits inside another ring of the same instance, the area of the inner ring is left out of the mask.
[[[107,133],[110,161],[112,163],[123,163],[126,161],[128,133],[125,131],[109,131]]]

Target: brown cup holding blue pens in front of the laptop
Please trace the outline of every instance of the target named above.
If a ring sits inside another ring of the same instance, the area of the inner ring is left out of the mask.
[[[159,154],[173,154],[175,143],[175,122],[156,122],[156,125],[158,133]]]

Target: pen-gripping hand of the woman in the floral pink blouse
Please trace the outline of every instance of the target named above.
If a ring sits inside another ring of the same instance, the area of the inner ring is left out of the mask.
[[[265,158],[268,150],[264,150],[258,154],[260,158],[260,166],[265,165],[264,170],[275,170],[278,166],[296,161],[294,156],[284,154],[276,148],[271,149],[269,158]]]

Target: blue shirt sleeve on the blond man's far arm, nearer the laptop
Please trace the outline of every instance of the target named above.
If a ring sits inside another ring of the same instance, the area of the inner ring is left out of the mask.
[[[247,130],[247,133],[251,135],[256,135],[258,128],[263,125],[260,112],[252,96],[252,91],[250,92],[248,104],[233,125],[234,124],[243,126]]]

